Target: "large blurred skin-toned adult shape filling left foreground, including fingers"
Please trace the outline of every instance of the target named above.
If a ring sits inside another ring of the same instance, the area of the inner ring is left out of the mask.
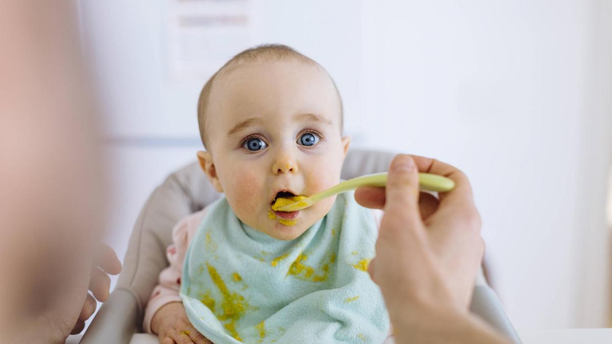
[[[63,343],[121,264],[73,1],[0,3],[0,333]],[[79,328],[80,327],[80,328]]]

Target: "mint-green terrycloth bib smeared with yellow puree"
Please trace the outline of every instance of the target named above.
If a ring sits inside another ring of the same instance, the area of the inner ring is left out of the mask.
[[[293,241],[245,225],[222,198],[185,257],[187,316],[214,343],[382,343],[389,318],[367,273],[376,235],[353,193]]]

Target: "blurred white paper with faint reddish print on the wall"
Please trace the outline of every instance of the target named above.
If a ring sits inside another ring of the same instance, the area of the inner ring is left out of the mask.
[[[212,75],[252,45],[250,0],[170,0],[168,67],[175,80]]]

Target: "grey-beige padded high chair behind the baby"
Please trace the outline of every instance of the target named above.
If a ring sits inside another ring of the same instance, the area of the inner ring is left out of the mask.
[[[346,156],[341,178],[386,171],[395,154],[352,150]],[[185,216],[200,211],[221,195],[209,184],[198,163],[171,174],[154,190],[136,220],[125,253],[118,283],[88,330],[83,344],[129,343],[141,333],[144,308],[159,274],[166,266],[166,247],[172,243],[173,226]],[[494,291],[477,277],[471,312],[520,343]]]

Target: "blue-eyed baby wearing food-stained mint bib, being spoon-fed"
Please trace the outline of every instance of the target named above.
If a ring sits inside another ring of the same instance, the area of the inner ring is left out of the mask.
[[[161,343],[383,342],[373,213],[353,193],[271,208],[340,182],[350,139],[323,67],[283,45],[243,51],[204,86],[198,121],[200,165],[225,197],[174,228],[144,329]]]

